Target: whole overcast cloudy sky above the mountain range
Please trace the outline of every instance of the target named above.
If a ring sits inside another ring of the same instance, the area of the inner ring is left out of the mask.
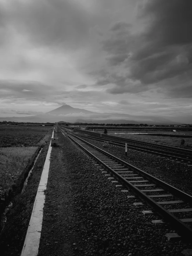
[[[192,113],[191,0],[0,0],[0,117]]]

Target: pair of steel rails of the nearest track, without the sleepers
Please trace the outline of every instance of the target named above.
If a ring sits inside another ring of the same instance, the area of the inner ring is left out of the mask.
[[[141,190],[139,190],[137,187],[135,187],[133,184],[131,184],[131,182],[129,182],[128,180],[126,180],[125,178],[123,178],[119,173],[117,173],[115,170],[113,170],[111,167],[109,167],[107,164],[105,164],[103,161],[101,161],[98,157],[96,157],[94,154],[92,154],[91,152],[89,152],[85,147],[83,147],[81,144],[79,144],[75,139],[71,138],[69,136],[69,134],[66,134],[74,143],[76,143],[80,148],[82,148],[85,152],[87,152],[89,155],[91,155],[97,162],[99,162],[101,165],[103,165],[104,168],[106,168],[108,171],[112,172],[119,180],[121,180],[125,186],[128,186],[130,188],[132,188],[134,190],[134,192],[143,200],[145,200],[152,208],[154,208],[160,215],[162,215],[167,221],[173,223],[176,225],[176,227],[178,229],[180,229],[181,233],[183,234],[183,236],[185,236],[186,238],[189,238],[188,236],[192,235],[192,229],[187,226],[185,223],[183,223],[180,219],[178,219],[177,217],[175,217],[173,214],[171,214],[170,212],[168,212],[164,207],[162,207],[161,205],[159,205],[157,202],[155,202],[152,198],[150,198],[148,195],[146,195],[145,193],[143,193]],[[192,196],[190,196],[189,194],[186,194],[185,192],[167,184],[164,181],[161,181],[159,179],[157,179],[154,176],[151,176],[150,174],[140,170],[137,167],[134,167],[133,165],[126,163],[125,161],[119,159],[116,156],[111,155],[110,153],[107,153],[105,151],[103,151],[101,148],[98,148],[92,144],[90,144],[89,142],[86,142],[85,140],[79,138],[78,136],[74,135],[74,134],[70,134],[71,136],[76,137],[77,139],[81,140],[82,142],[84,142],[85,144],[95,148],[96,150],[102,152],[103,154],[110,156],[111,158],[115,159],[117,162],[120,162],[126,166],[128,166],[130,169],[138,172],[138,173],[142,173],[143,176],[148,177],[149,179],[155,181],[157,184],[160,184],[162,187],[169,189],[170,191],[174,191],[175,194],[180,195],[181,198],[185,198],[186,200],[190,200],[192,199]]]

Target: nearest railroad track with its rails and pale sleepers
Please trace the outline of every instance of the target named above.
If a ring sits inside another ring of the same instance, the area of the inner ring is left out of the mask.
[[[61,128],[61,127],[60,127]],[[86,142],[84,139],[72,133],[63,134],[68,136],[73,143],[85,151],[102,165],[105,176],[116,184],[116,187],[125,187],[131,194],[128,198],[139,197],[158,214],[174,225],[186,238],[192,235],[192,196],[157,179],[156,177],[126,163],[125,161],[103,151],[102,149]],[[135,194],[137,195],[135,195]],[[143,203],[134,203],[143,204]],[[152,211],[143,210],[143,214],[154,214]],[[162,223],[162,220],[154,220],[153,223]]]

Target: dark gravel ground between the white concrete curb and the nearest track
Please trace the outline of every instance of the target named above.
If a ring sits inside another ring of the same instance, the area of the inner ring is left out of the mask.
[[[176,228],[152,224],[160,217],[143,215],[151,210],[145,202],[133,205],[141,200],[127,198],[132,191],[121,192],[126,188],[116,187],[105,176],[109,173],[102,173],[68,137],[56,136],[59,146],[51,153],[38,256],[177,256],[192,247],[184,240],[167,241],[165,234]]]

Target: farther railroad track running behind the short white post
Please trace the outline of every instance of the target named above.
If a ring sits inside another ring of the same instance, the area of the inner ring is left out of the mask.
[[[104,134],[102,134],[102,138],[101,137],[98,138],[98,136],[101,136],[100,134],[93,133],[90,131],[88,131],[88,133],[91,133],[94,136],[84,135],[81,133],[78,133],[78,136],[87,137],[89,139],[95,139],[101,142],[107,141],[109,142],[109,144],[120,146],[120,147],[125,147],[125,143],[127,143],[127,147],[133,150],[139,150],[146,153],[168,157],[169,159],[175,159],[177,161],[185,162],[188,164],[192,163],[192,150],[185,150],[182,148],[175,148],[175,147],[164,146],[164,145],[159,145],[155,143],[142,142],[139,140],[120,138],[117,136],[104,135]]]

